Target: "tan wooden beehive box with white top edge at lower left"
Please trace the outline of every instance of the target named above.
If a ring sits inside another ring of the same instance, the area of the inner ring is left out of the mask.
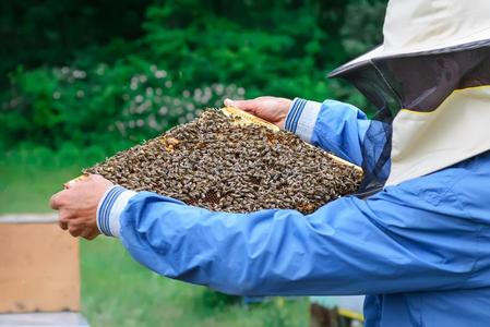
[[[0,313],[80,310],[79,241],[56,217],[0,217]]]

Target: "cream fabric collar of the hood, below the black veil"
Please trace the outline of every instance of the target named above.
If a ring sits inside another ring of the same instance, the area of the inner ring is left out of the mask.
[[[401,110],[392,125],[386,185],[426,175],[490,150],[490,86],[457,89],[429,112]]]

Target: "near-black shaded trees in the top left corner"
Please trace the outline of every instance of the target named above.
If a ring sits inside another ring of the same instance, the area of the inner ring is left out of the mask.
[[[34,68],[68,63],[85,48],[141,36],[141,22],[151,2],[0,1],[0,83],[19,64]]]

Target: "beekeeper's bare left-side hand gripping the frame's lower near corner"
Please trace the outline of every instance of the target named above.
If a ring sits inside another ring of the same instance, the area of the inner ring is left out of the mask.
[[[59,225],[72,237],[95,239],[97,228],[97,206],[104,193],[113,184],[98,174],[89,174],[76,182],[69,182],[65,190],[51,196],[49,205],[58,210]]]

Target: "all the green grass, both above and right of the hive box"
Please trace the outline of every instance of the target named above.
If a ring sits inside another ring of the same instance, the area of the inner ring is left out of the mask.
[[[79,167],[0,162],[0,214],[46,213],[52,193]],[[274,299],[246,306],[210,305],[210,291],[158,276],[135,263],[118,240],[81,242],[82,312],[91,326],[307,326],[308,301]]]

